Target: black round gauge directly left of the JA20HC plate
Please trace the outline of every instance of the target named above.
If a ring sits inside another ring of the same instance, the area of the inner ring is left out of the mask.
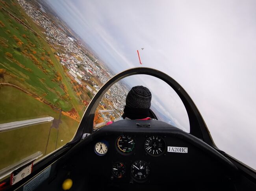
[[[165,141],[160,136],[150,136],[144,144],[146,152],[151,156],[160,156],[165,152]]]

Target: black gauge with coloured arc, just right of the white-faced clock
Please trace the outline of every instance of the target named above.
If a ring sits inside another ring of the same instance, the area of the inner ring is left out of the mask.
[[[121,135],[117,138],[117,149],[121,153],[131,153],[134,148],[135,141],[131,136]]]

